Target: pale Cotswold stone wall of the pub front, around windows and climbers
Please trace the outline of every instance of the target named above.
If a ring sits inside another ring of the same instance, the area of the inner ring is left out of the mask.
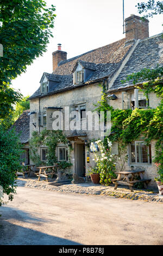
[[[114,108],[120,108],[122,109],[122,92],[114,93],[118,99],[117,100],[110,100],[110,105]],[[30,112],[35,111],[36,114],[30,115],[30,137],[32,136],[33,131],[39,131],[39,109],[40,111],[43,111],[43,107],[65,107],[70,105],[77,105],[80,103],[85,103],[86,105],[86,111],[92,111],[92,109],[95,109],[96,107],[93,104],[96,104],[97,101],[101,99],[101,88],[98,86],[98,84],[85,86],[81,88],[76,88],[73,90],[69,90],[65,93],[58,93],[51,96],[45,96],[40,98],[40,104],[39,99],[34,99],[30,101]],[[151,93],[149,95],[149,106],[152,108],[155,108],[158,106],[160,100],[156,97],[154,93]],[[36,124],[36,127],[33,125]],[[43,127],[40,127],[40,131],[43,129]],[[99,131],[82,131],[82,133],[87,134],[87,141],[89,139],[99,139],[101,138],[101,132]],[[68,135],[68,131],[65,132],[66,135]],[[155,142],[152,141],[152,157],[155,153],[154,148]],[[72,142],[72,148],[74,149],[74,142]],[[74,150],[71,151],[71,162],[73,163],[73,166],[71,167],[72,173],[75,172],[75,154]],[[87,156],[87,148],[85,148],[85,168],[86,172],[90,167],[95,166],[95,161],[93,161],[93,153],[89,153],[90,156],[90,162],[87,163],[86,161]],[[145,177],[152,179],[149,186],[156,186],[154,182],[155,176],[157,176],[157,170],[155,165],[152,164],[133,164],[126,162],[125,164],[125,170],[130,169],[130,166],[134,166],[134,168],[143,168],[146,170]],[[118,167],[117,167],[118,169]]]

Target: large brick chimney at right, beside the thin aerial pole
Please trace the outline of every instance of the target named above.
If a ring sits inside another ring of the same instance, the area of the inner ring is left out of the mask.
[[[125,20],[126,27],[126,45],[133,44],[137,39],[146,39],[149,37],[149,21],[142,20],[141,17],[131,14]]]

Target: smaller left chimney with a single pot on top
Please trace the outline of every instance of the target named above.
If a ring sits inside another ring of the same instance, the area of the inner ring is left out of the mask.
[[[67,59],[67,52],[61,51],[61,44],[58,44],[58,50],[52,53],[53,55],[53,71],[57,69],[61,60]]]

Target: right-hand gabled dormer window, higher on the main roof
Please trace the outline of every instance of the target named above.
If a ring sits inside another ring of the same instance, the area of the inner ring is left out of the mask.
[[[93,75],[93,72],[95,72],[96,70],[95,66],[95,63],[89,63],[84,62],[83,60],[78,60],[78,62],[72,70],[73,84],[78,85],[88,81],[89,78]]]

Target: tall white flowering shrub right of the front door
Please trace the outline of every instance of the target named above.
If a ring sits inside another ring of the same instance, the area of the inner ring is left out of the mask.
[[[96,173],[100,175],[101,184],[110,184],[111,179],[116,178],[115,175],[115,155],[111,154],[112,143],[107,138],[107,143],[100,139],[96,141],[99,151],[93,153],[93,161],[96,162]]]

